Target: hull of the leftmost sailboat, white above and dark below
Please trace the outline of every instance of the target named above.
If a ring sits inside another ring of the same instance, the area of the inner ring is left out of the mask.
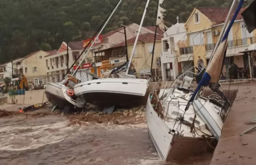
[[[61,86],[56,83],[47,83],[45,95],[48,101],[58,108],[64,108],[65,106],[74,107],[64,98]]]

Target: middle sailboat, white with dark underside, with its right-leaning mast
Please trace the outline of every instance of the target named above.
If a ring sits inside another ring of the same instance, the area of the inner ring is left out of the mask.
[[[63,94],[68,101],[81,108],[84,106],[83,104],[85,104],[85,102],[100,105],[102,107],[113,107],[116,105],[126,107],[135,106],[143,101],[148,89],[149,80],[136,78],[134,75],[128,74],[128,72],[148,5],[149,0],[146,2],[139,30],[131,52],[131,57],[128,61],[125,78],[104,78],[78,83],[74,87],[74,93],[78,98],[77,100],[70,98],[67,90],[63,88]]]

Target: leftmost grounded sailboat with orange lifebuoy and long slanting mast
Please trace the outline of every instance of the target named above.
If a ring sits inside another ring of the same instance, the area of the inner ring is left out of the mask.
[[[122,1],[122,0],[119,0],[119,2],[117,3],[116,7],[110,12],[110,14],[108,15],[108,17],[107,17],[107,18],[105,19],[105,21],[102,23],[101,27],[96,31],[96,33],[95,33],[94,36],[91,38],[91,40],[90,40],[89,43],[91,43],[92,40],[94,39],[94,41],[93,41],[93,44],[94,44],[94,42],[95,42],[95,40],[96,40],[95,38],[97,38],[97,37],[95,37],[95,36],[99,33],[100,30],[101,30],[101,32],[102,32],[102,30],[103,30],[104,27],[107,25],[107,23],[108,23],[108,21],[110,20],[110,18],[112,17],[113,13],[115,12],[115,10],[117,9],[117,7],[119,6],[120,1]],[[100,33],[101,33],[101,32],[100,32]],[[99,34],[100,34],[100,33],[99,33]],[[98,34],[98,36],[99,36],[99,34]],[[77,58],[77,60],[81,57],[81,55],[83,54],[83,52],[87,49],[89,43],[87,44],[87,46],[85,46],[84,50],[81,52],[81,54],[79,55],[79,57]],[[86,53],[84,56],[86,56],[86,55],[88,54],[88,52],[90,52],[90,49],[92,48],[93,44],[91,44],[89,50],[87,50],[87,53]],[[67,48],[67,49],[68,49],[68,48]],[[84,58],[83,58],[83,59],[84,59]],[[77,60],[76,60],[76,61],[77,61]],[[73,63],[73,65],[75,65],[76,61]],[[79,66],[81,66],[82,61],[83,61],[83,60],[81,60],[81,62],[79,63]],[[73,65],[69,68],[69,71],[70,71],[70,69],[73,67]],[[78,70],[79,66],[76,68],[76,71]],[[69,72],[69,71],[68,71],[68,72]],[[75,96],[67,97],[66,95],[65,95],[65,96],[66,96],[66,97],[65,97],[64,94],[63,94],[63,90],[64,90],[64,91],[67,91],[69,88],[68,88],[67,86],[65,86],[65,85],[63,86],[63,84],[64,84],[66,81],[70,81],[70,84],[73,84],[73,86],[74,86],[74,83],[80,82],[80,81],[78,81],[78,80],[74,77],[74,75],[77,73],[76,71],[75,71],[75,73],[74,73],[73,75],[68,75],[68,74],[66,74],[64,77],[67,76],[67,78],[66,78],[65,80],[62,80],[61,82],[58,82],[58,83],[50,83],[50,82],[49,82],[49,83],[47,83],[45,93],[46,93],[46,98],[48,99],[49,102],[51,102],[51,103],[52,103],[53,105],[55,105],[55,106],[58,106],[58,107],[61,108],[61,109],[64,108],[64,107],[73,108],[73,107],[75,106],[75,104],[73,103],[73,100],[76,99],[76,97],[75,97]],[[67,72],[67,73],[68,73],[68,72]],[[84,70],[84,72],[85,72],[86,74],[91,75],[91,76],[93,77],[93,79],[98,79],[98,78],[99,78],[98,76],[96,76],[96,75],[94,75],[94,74],[91,74],[90,72],[88,72],[88,71],[86,71],[86,70]],[[62,88],[63,88],[63,90],[62,90]],[[67,98],[68,100],[67,100],[66,98]],[[81,107],[81,106],[78,106],[78,107]]]

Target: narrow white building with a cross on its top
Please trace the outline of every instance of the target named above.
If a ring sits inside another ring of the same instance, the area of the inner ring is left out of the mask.
[[[177,17],[178,21],[178,17]],[[163,81],[174,80],[178,76],[178,43],[186,41],[184,23],[177,22],[164,33],[162,38],[161,69]]]

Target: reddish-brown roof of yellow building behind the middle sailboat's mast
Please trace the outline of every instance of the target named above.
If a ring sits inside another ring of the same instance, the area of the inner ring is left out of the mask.
[[[154,36],[155,34],[152,33],[146,33],[146,34],[140,34],[138,42],[153,42],[154,41]],[[156,35],[155,40],[161,40],[162,35]],[[133,44],[135,42],[136,37],[133,37],[131,39],[127,40],[127,45]],[[119,43],[115,45],[114,47],[119,47],[119,46],[125,46],[125,42]]]

